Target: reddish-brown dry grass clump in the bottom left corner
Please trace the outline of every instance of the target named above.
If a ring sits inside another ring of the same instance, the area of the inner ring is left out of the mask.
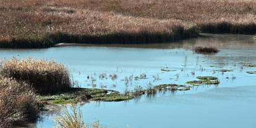
[[[38,116],[35,93],[27,83],[0,76],[0,127],[12,127]]]

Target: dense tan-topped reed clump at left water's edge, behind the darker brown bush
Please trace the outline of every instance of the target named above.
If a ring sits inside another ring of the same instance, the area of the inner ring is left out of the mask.
[[[3,62],[0,72],[27,82],[40,94],[63,92],[71,86],[67,67],[54,61],[13,58]]]

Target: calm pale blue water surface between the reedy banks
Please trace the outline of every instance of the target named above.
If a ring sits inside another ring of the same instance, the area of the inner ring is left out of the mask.
[[[191,49],[197,45],[215,46],[221,51],[212,55],[195,54]],[[203,75],[220,79],[219,85],[194,87],[151,98],[85,103],[80,106],[87,123],[99,120],[103,127],[256,127],[256,74],[246,73],[256,67],[243,66],[245,62],[256,64],[256,42],[251,35],[205,35],[151,45],[0,49],[0,53],[1,59],[15,56],[55,60],[69,67],[79,87],[120,92],[133,90],[138,85],[147,88],[149,84],[185,84]],[[161,71],[166,68],[175,71]],[[215,71],[218,69],[234,71]],[[111,74],[116,74],[117,79],[112,80]],[[132,79],[126,83],[126,78],[140,74],[148,79]],[[106,77],[100,79],[100,75]],[[53,127],[54,115],[59,111],[43,114],[36,126]]]

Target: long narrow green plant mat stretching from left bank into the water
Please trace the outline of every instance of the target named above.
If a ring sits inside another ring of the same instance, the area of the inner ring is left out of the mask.
[[[43,105],[48,104],[76,104],[83,101],[124,101],[137,98],[141,95],[155,94],[157,91],[184,91],[189,90],[187,85],[163,84],[143,90],[135,88],[132,92],[120,93],[114,90],[98,88],[70,88],[66,93],[56,95],[38,95],[36,98]]]

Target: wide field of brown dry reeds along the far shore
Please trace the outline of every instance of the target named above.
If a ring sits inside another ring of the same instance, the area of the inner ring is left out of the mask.
[[[256,1],[2,0],[0,47],[58,42],[151,43],[211,33],[255,33]]]

